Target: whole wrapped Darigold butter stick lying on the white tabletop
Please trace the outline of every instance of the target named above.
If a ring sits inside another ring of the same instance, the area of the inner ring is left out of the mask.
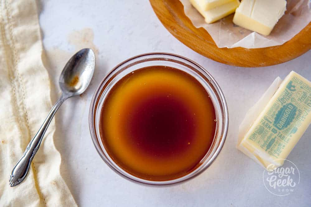
[[[311,82],[294,71],[282,83],[275,82],[278,89],[274,95],[268,89],[265,97],[271,94],[271,99],[237,145],[267,169],[283,165],[311,123]]]

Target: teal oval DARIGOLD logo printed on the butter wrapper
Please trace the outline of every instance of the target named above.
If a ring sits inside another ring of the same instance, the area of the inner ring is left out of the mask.
[[[285,129],[294,120],[297,107],[292,103],[287,103],[277,112],[273,126],[277,129]]]

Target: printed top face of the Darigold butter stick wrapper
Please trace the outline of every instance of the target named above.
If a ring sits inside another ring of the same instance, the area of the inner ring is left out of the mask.
[[[279,158],[311,113],[311,84],[295,75],[285,81],[285,87],[276,93],[275,101],[247,137],[274,158]]]

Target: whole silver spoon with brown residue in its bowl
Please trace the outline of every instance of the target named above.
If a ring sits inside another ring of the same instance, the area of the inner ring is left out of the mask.
[[[68,60],[59,77],[59,86],[62,95],[49,112],[37,134],[31,139],[21,159],[13,168],[9,179],[11,187],[20,184],[26,178],[31,161],[38,151],[44,133],[59,106],[67,98],[80,95],[87,89],[91,82],[94,69],[95,54],[92,49],[81,49]]]

